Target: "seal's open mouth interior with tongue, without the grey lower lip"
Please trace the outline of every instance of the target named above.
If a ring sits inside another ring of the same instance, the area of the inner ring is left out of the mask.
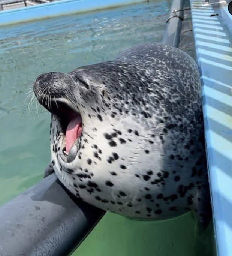
[[[50,105],[43,106],[53,114],[60,122],[62,132],[66,136],[66,147],[64,154],[69,155],[69,152],[76,140],[81,136],[82,118],[79,112],[74,111],[71,106],[60,100],[52,100]],[[76,150],[75,150],[76,151]],[[77,151],[75,152],[77,153]]]

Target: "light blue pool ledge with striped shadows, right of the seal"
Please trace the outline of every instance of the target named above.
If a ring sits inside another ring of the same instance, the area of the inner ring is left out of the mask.
[[[232,16],[226,3],[214,9],[202,0],[190,2],[203,85],[205,140],[217,254],[232,256],[232,34],[227,29],[232,27]],[[219,16],[214,16],[216,13]]]

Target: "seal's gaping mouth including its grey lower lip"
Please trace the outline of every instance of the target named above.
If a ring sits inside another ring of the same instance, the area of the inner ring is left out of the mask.
[[[50,105],[44,106],[60,124],[64,135],[64,147],[61,158],[64,162],[72,162],[79,149],[79,137],[82,132],[82,118],[79,111],[66,100],[54,99]]]

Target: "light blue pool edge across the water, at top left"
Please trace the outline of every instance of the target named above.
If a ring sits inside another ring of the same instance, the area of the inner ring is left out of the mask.
[[[3,10],[0,12],[0,27],[75,13],[116,8],[145,1],[147,0],[104,0],[100,2],[93,0],[60,0],[13,10]]]

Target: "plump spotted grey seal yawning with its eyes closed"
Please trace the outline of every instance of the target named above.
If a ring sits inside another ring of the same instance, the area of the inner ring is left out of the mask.
[[[185,52],[136,46],[42,74],[34,93],[52,114],[50,171],[78,198],[127,217],[209,218],[201,82]]]

